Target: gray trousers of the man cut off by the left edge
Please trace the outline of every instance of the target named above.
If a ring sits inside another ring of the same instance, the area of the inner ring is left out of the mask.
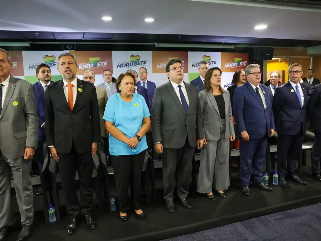
[[[17,202],[21,215],[21,223],[33,223],[33,190],[30,179],[31,159],[8,159],[0,151],[0,228],[12,226],[11,211],[11,178],[16,190]]]

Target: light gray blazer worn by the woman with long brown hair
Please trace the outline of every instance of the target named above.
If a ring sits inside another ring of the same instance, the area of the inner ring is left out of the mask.
[[[206,92],[206,90],[200,91],[198,96],[203,113],[205,138],[206,140],[217,141],[220,139],[220,123],[223,118],[220,116],[215,97],[212,92]],[[235,135],[229,91],[225,90],[223,98],[225,102],[225,139],[227,140],[230,139],[231,135]]]

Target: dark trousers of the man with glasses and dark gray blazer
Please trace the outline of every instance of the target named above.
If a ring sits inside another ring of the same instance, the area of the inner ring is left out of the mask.
[[[174,189],[180,199],[187,198],[189,180],[192,174],[192,160],[195,147],[191,147],[186,140],[185,145],[179,149],[164,148],[162,158],[164,200],[173,201]]]

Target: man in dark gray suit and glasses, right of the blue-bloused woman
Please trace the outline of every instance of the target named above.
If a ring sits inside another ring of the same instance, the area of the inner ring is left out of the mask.
[[[192,158],[196,145],[200,149],[204,144],[198,90],[183,81],[183,69],[179,59],[167,63],[169,82],[154,90],[152,105],[152,136],[155,151],[163,154],[164,200],[168,212],[175,212],[175,186],[183,205],[193,208],[186,199]]]

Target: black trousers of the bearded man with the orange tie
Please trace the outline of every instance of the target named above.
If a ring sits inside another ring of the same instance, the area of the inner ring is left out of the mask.
[[[66,197],[66,208],[70,218],[91,214],[92,210],[92,171],[94,162],[91,151],[78,153],[72,144],[70,153],[57,153],[61,184]],[[75,175],[78,171],[80,184],[80,204],[76,193]]]

